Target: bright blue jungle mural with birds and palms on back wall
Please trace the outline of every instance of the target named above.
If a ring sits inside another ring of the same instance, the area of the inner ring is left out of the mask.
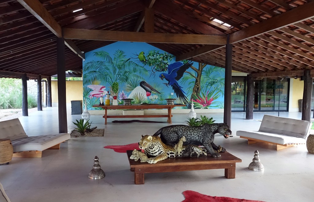
[[[107,92],[134,104],[165,104],[176,99],[190,108],[223,108],[225,69],[184,60],[147,43],[116,42],[85,53],[83,96],[88,109]]]

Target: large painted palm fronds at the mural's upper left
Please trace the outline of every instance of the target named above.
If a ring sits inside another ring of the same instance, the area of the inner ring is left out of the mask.
[[[114,82],[127,83],[130,79],[144,79],[141,75],[148,75],[148,71],[126,58],[125,52],[116,50],[113,57],[108,52],[94,52],[98,61],[90,61],[84,65],[84,85],[92,84],[95,80],[108,83],[112,86]]]

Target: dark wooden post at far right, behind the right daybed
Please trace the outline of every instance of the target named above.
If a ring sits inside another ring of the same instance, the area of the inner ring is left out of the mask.
[[[303,88],[303,101],[302,101],[302,120],[311,121],[311,99],[313,79],[311,78],[311,71],[304,71],[304,88]]]

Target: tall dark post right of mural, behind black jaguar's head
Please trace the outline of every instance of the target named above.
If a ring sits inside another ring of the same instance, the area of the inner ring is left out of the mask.
[[[224,123],[231,128],[231,74],[232,74],[232,44],[229,44],[227,36],[226,60],[225,60],[225,106]]]

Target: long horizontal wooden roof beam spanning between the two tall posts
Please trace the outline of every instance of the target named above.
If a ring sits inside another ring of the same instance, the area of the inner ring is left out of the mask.
[[[145,33],[64,28],[65,39],[137,41],[147,43],[225,44],[226,35]]]

